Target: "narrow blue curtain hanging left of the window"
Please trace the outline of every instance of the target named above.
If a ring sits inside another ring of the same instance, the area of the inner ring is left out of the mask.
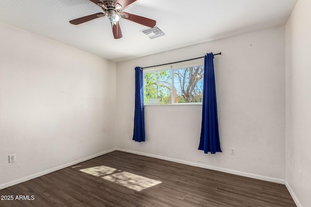
[[[135,115],[133,140],[139,143],[145,142],[144,83],[141,67],[135,68]]]

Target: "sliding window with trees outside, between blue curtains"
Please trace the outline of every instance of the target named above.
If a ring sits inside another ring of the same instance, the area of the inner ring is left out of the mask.
[[[203,63],[144,71],[144,104],[200,103]]]

